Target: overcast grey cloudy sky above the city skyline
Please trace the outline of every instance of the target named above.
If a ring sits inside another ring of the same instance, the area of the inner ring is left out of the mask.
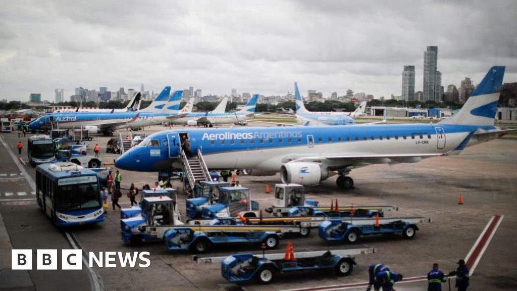
[[[401,95],[438,46],[442,85],[493,65],[517,81],[516,1],[0,1],[0,99],[193,86],[263,95]]]

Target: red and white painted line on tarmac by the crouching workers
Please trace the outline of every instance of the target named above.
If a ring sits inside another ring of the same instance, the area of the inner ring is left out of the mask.
[[[486,248],[488,248],[490,241],[492,241],[492,238],[494,237],[495,232],[497,231],[497,228],[501,224],[501,221],[503,221],[504,217],[505,217],[504,215],[493,215],[490,218],[489,222],[486,224],[483,231],[481,231],[481,234],[479,235],[478,239],[472,246],[472,249],[470,249],[470,252],[465,257],[466,265],[470,270],[470,272],[469,272],[470,276],[472,276],[472,274],[474,273],[474,270],[476,269],[476,267],[479,263],[479,260],[483,256]],[[427,275],[404,278],[403,281],[400,281],[397,283],[401,284],[401,283],[420,282],[420,281],[427,281]],[[329,285],[329,286],[321,286],[321,287],[285,289],[282,291],[330,291],[330,290],[352,289],[352,288],[366,287],[366,286],[368,286],[368,282],[342,284],[342,285]]]

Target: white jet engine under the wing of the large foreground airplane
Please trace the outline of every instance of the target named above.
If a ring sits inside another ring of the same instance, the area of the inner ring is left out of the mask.
[[[304,186],[317,185],[329,177],[326,169],[317,163],[285,163],[280,168],[282,183],[295,183]]]

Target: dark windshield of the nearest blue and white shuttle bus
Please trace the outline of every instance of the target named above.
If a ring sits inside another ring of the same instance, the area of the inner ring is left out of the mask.
[[[60,185],[58,203],[59,211],[99,208],[99,187],[97,183]]]

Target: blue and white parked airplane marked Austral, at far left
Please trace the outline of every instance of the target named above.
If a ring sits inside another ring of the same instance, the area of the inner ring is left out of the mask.
[[[89,133],[113,135],[113,130],[119,128],[140,128],[150,125],[161,124],[172,121],[175,118],[184,117],[187,113],[177,114],[181,94],[183,91],[176,91],[170,98],[171,87],[165,89],[147,107],[139,112],[113,112],[113,113],[53,113],[42,115],[31,122],[27,127],[29,130],[40,130],[50,128],[52,123],[60,129],[72,129],[83,127]]]

